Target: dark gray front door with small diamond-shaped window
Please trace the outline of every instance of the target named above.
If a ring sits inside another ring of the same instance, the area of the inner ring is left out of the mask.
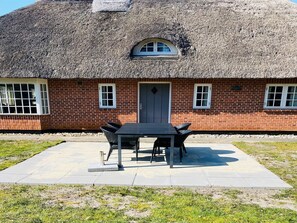
[[[169,84],[140,84],[139,122],[168,123]]]

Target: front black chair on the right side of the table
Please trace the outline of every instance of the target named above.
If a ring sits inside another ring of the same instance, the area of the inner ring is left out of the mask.
[[[179,159],[182,162],[183,158],[183,150],[185,150],[184,142],[189,135],[192,134],[191,130],[180,130],[178,135],[174,137],[174,147],[179,147]],[[169,138],[157,138],[154,142],[153,152],[151,156],[151,162],[153,157],[156,155],[157,150],[160,151],[160,147],[168,148],[170,147],[170,139]]]

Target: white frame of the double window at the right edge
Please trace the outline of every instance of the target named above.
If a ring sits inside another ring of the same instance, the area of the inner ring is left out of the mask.
[[[297,87],[297,84],[267,84],[265,88],[264,109],[297,109],[297,106],[286,106],[289,86]],[[267,106],[269,87],[283,87],[280,106]]]

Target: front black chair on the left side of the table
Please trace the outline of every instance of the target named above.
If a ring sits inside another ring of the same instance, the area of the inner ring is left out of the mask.
[[[118,149],[118,136],[115,134],[117,131],[114,128],[108,127],[108,126],[102,126],[101,131],[104,133],[105,137],[107,138],[107,141],[109,143],[109,152],[107,155],[106,160],[109,159],[112,151],[114,149]],[[136,153],[136,161],[138,161],[138,150],[139,150],[139,140],[138,138],[122,138],[122,149],[135,149]]]

